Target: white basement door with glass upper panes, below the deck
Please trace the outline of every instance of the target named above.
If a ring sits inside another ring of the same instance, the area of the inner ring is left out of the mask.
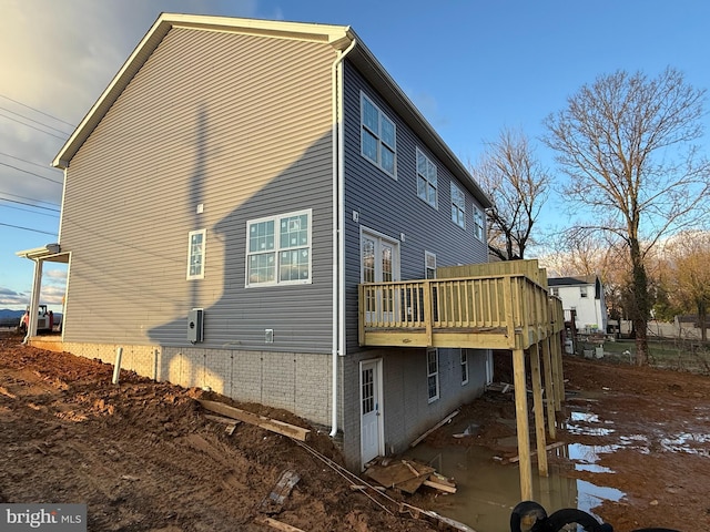
[[[384,454],[382,359],[359,364],[361,460],[363,467]]]

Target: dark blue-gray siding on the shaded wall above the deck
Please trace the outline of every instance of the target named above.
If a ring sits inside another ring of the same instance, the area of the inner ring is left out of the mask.
[[[361,91],[396,124],[396,180],[361,154]],[[425,277],[425,250],[436,254],[438,266],[488,260],[485,242],[474,236],[473,205],[480,205],[447,166],[433,155],[426,141],[379,98],[359,72],[345,62],[345,279],[347,348],[357,350],[357,284],[361,280],[359,229],[375,229],[399,241],[400,278]],[[417,196],[417,147],[436,165],[438,209]],[[466,196],[466,227],[452,222],[450,183]],[[353,211],[359,221],[353,221]]]

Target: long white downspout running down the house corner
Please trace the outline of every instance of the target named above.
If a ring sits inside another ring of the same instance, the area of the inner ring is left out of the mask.
[[[342,234],[345,212],[345,176],[343,163],[343,69],[342,62],[357,41],[338,52],[331,70],[331,102],[332,102],[332,139],[333,139],[333,375],[332,375],[332,412],[331,438],[337,434],[337,358],[345,355],[345,275],[344,256],[345,243]]]

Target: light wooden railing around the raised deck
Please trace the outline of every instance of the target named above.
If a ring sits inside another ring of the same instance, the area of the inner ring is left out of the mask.
[[[378,346],[527,348],[555,328],[561,314],[555,300],[515,274],[367,283],[359,285],[359,339]]]

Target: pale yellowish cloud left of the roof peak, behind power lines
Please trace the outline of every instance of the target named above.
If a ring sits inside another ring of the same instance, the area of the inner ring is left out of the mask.
[[[0,152],[45,165],[0,155],[0,191],[60,204],[63,175],[51,161],[161,11],[254,17],[257,10],[256,0],[0,0],[0,94],[73,124],[0,98]],[[52,232],[58,223],[42,222]]]

